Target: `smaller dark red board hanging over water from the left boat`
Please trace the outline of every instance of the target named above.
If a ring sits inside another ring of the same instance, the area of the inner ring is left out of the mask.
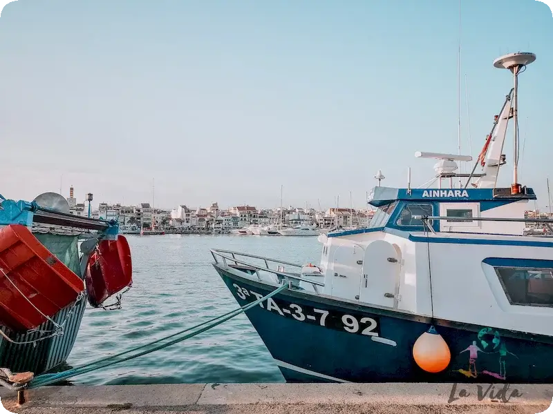
[[[102,240],[88,259],[86,295],[88,303],[97,308],[108,297],[133,284],[131,248],[124,236],[117,240]]]

